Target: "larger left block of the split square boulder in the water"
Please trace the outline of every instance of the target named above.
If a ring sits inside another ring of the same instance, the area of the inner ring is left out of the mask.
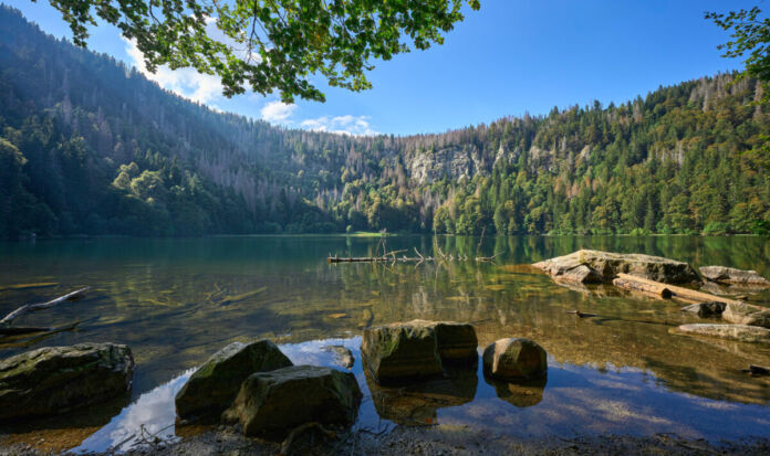
[[[413,320],[367,328],[361,340],[365,368],[383,384],[426,378],[441,372],[436,328]]]

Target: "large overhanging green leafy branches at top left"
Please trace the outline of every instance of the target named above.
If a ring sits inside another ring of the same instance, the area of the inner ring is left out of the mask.
[[[33,0],[34,1],[34,0]],[[75,44],[102,19],[135,40],[147,68],[194,67],[218,75],[225,95],[248,87],[284,103],[323,102],[311,78],[371,88],[366,71],[413,47],[444,43],[479,0],[49,0],[70,24]]]

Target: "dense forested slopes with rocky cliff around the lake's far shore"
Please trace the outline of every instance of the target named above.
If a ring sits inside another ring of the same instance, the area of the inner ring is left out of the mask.
[[[287,129],[185,100],[0,7],[0,237],[767,234],[761,96],[720,74],[437,135]]]

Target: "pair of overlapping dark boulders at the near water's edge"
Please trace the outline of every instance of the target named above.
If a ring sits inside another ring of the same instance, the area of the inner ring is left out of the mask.
[[[355,377],[292,365],[269,340],[235,342],[215,353],[176,396],[188,421],[238,422],[248,436],[282,438],[308,422],[351,424],[361,403]]]

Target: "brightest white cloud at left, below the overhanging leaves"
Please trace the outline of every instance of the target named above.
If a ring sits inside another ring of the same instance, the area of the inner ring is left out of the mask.
[[[131,63],[139,73],[150,81],[155,81],[160,87],[192,102],[210,104],[214,99],[222,97],[222,84],[219,78],[210,74],[200,74],[194,68],[171,70],[168,66],[158,66],[155,73],[150,73],[144,62],[144,54],[136,46],[136,41],[126,40],[126,53]]]

